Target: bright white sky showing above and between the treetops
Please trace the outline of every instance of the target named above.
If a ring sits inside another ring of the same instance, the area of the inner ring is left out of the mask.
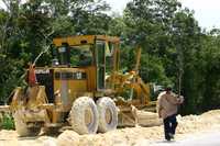
[[[112,11],[122,13],[131,0],[106,0]],[[220,27],[220,0],[179,0],[184,7],[195,11],[195,18],[204,29]]]

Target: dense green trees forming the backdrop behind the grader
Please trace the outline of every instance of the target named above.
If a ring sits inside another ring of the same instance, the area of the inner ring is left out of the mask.
[[[109,15],[101,0],[2,0],[0,9],[0,100],[18,85],[29,61],[55,36],[108,34],[122,40],[121,69],[134,65],[141,46],[144,81],[172,85],[186,98],[183,113],[220,108],[220,30],[201,30],[177,0],[133,0],[122,15]],[[50,63],[50,53],[37,65]]]

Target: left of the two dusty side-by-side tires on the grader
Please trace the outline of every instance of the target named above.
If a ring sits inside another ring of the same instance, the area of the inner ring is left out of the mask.
[[[86,124],[86,110],[91,112],[91,122]],[[95,134],[98,130],[98,110],[94,100],[89,97],[80,97],[75,100],[69,113],[69,123],[78,134]]]

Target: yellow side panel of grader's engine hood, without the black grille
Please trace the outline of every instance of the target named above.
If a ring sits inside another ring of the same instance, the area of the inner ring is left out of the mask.
[[[55,68],[54,93],[64,106],[70,106],[72,102],[88,91],[87,68]]]

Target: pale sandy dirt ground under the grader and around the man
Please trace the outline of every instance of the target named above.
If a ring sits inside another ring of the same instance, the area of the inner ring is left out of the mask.
[[[177,116],[176,139],[187,134],[206,133],[220,130],[220,110],[201,115]],[[78,135],[65,131],[57,136],[19,137],[15,131],[0,131],[0,146],[146,146],[152,141],[163,141],[163,126],[125,127],[105,134]]]

